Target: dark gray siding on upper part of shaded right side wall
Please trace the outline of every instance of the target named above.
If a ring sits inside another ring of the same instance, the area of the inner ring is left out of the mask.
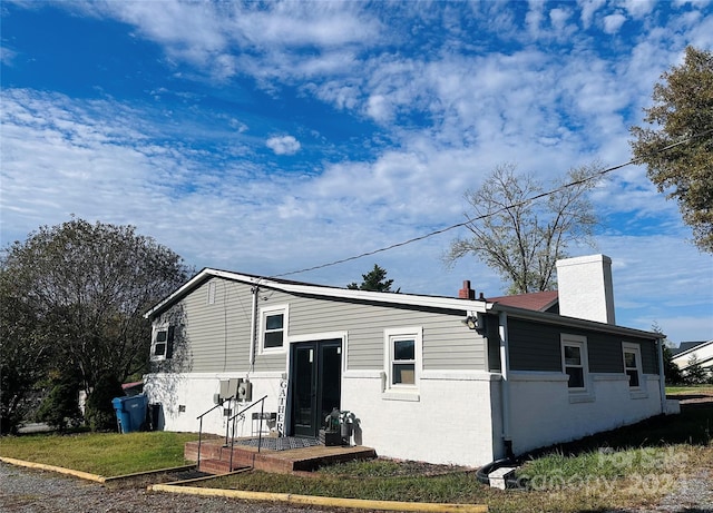
[[[561,372],[560,334],[587,338],[589,371],[624,373],[622,343],[637,343],[642,349],[644,373],[658,374],[656,345],[648,338],[623,338],[618,335],[566,326],[508,319],[510,368],[514,371]]]

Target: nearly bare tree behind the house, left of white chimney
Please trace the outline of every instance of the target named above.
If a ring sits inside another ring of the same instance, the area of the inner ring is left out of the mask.
[[[587,193],[599,171],[598,165],[572,169],[545,195],[533,175],[517,175],[515,165],[498,166],[480,189],[466,193],[470,236],[451,243],[446,264],[475,255],[500,275],[509,294],[551,290],[567,247],[593,245],[597,220]]]

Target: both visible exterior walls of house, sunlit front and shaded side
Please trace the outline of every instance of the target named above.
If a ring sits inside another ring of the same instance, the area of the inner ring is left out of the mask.
[[[253,290],[251,283],[212,276],[155,318],[155,326],[172,323],[177,333],[173,358],[156,362],[145,377],[149,402],[162,404],[165,430],[197,431],[197,417],[228,378],[250,378],[253,399],[267,396],[265,411],[276,412],[281,385],[290,378],[291,344],[334,338],[342,341],[341,410],[360,421],[353,440],[384,456],[471,466],[501,457],[504,401],[510,404],[506,435],[516,454],[661,412],[655,341],[633,331],[622,337],[596,326],[565,326],[554,315],[533,320],[508,314],[511,372],[502,381],[498,315],[479,312],[484,325],[473,331],[457,304],[448,309],[267,286],[260,286],[257,296]],[[263,313],[274,308],[285,312],[284,343],[263,349]],[[418,332],[421,341],[411,389],[389,381],[389,337],[399,331]],[[584,393],[568,389],[563,334],[586,339]],[[643,383],[636,391],[624,369],[627,343],[641,348]],[[246,404],[225,406],[234,413]],[[204,432],[225,435],[223,407],[203,418]],[[248,436],[254,427],[248,415],[235,435]]]

